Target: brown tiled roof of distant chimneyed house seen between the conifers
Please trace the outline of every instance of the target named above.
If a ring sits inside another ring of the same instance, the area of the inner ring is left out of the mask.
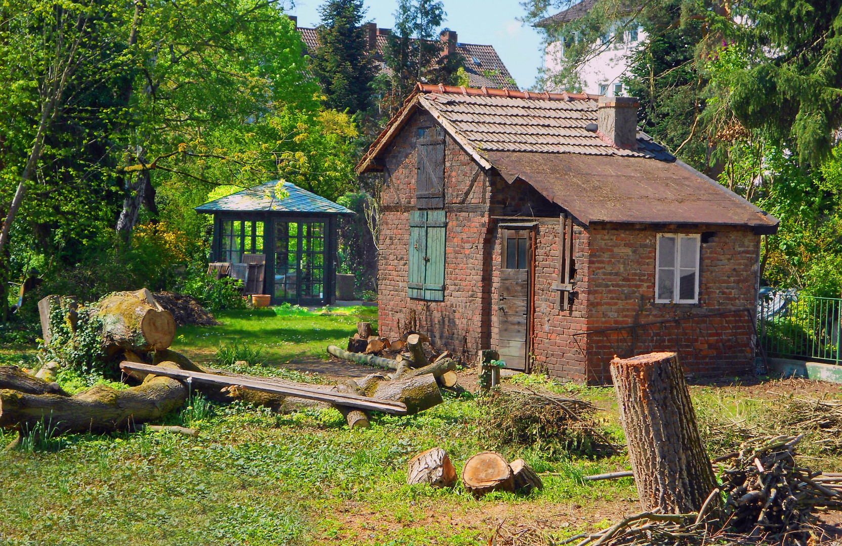
[[[307,46],[307,50],[315,51],[318,48],[316,29],[305,29],[299,27],[301,40]],[[377,36],[376,60],[379,70],[382,72],[386,65],[382,63],[385,56],[387,37],[383,34]],[[437,42],[438,43],[438,42]],[[456,53],[461,54],[465,59],[462,66],[468,75],[468,82],[472,87],[499,87],[516,91],[518,86],[514,83],[509,69],[503,64],[497,50],[493,45],[480,44],[456,44]]]

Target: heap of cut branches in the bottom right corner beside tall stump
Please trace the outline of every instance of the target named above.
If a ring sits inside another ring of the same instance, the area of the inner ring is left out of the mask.
[[[733,462],[721,465],[724,481],[698,513],[645,512],[582,535],[577,546],[813,544],[820,531],[816,513],[842,510],[842,474],[801,466],[795,449],[801,441],[802,436],[772,436],[744,442]]]

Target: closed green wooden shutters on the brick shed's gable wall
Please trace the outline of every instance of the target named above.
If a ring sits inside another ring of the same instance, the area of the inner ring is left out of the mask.
[[[444,210],[409,213],[407,294],[415,300],[445,300]]]

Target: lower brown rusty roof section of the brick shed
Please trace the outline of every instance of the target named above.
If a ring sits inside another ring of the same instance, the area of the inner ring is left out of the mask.
[[[779,223],[682,162],[509,151],[488,159],[509,183],[524,180],[586,225],[749,225],[775,233]]]

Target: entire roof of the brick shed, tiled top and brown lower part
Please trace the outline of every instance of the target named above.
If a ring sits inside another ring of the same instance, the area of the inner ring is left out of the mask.
[[[483,168],[509,183],[529,183],[585,224],[745,225],[775,233],[775,217],[677,161],[645,133],[637,134],[637,150],[627,150],[586,130],[597,121],[597,98],[419,84],[357,172],[381,169],[381,151],[425,109]]]

